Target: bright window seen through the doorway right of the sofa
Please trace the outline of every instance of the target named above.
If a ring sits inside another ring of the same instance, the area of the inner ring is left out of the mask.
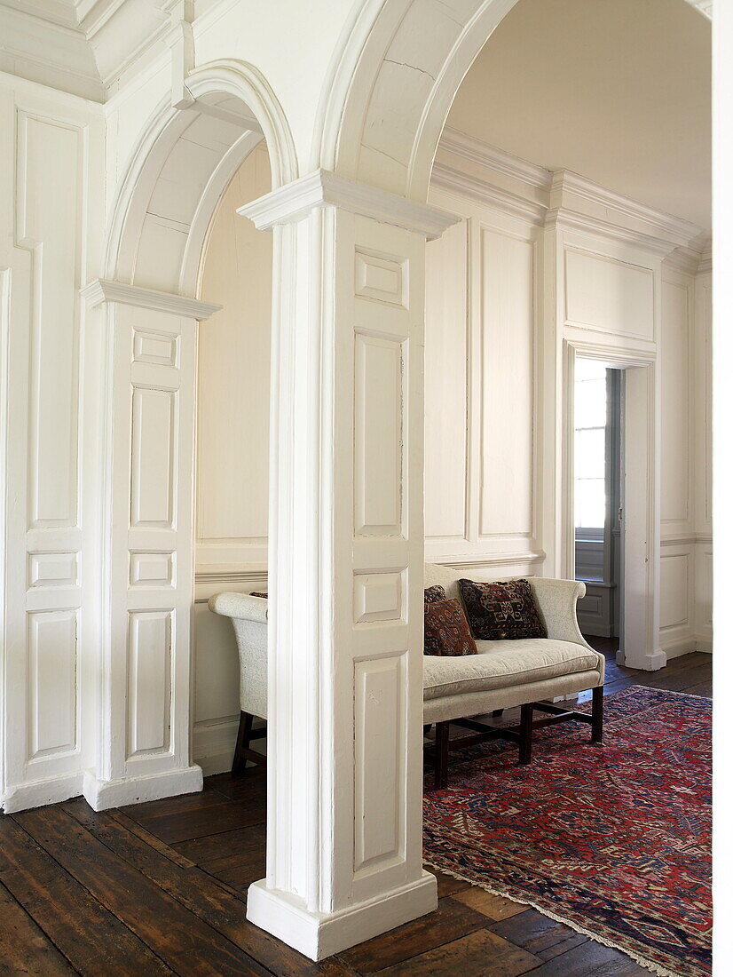
[[[606,523],[606,367],[575,361],[575,526],[602,539]]]

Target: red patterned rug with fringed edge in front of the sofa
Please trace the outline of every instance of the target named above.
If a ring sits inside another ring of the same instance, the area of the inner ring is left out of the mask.
[[[535,734],[528,767],[500,741],[451,754],[448,788],[425,796],[426,862],[656,973],[709,974],[711,714],[637,686],[606,699],[602,747],[564,723]]]

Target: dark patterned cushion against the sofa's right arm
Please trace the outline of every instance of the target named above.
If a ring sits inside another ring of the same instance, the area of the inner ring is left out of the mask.
[[[547,638],[529,580],[459,580],[470,630],[478,641]]]

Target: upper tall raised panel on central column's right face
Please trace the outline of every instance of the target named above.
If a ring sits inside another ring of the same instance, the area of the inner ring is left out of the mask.
[[[404,346],[354,338],[354,533],[402,533]]]

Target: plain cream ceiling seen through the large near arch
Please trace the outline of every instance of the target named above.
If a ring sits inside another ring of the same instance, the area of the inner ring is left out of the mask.
[[[711,227],[711,23],[686,0],[519,0],[448,125]]]

